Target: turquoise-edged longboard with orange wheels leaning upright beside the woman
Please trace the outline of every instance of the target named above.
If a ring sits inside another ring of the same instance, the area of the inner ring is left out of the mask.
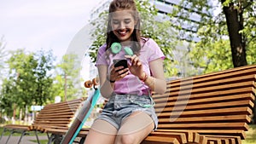
[[[100,97],[100,90],[96,88],[96,85],[99,84],[99,79],[94,78],[92,81],[86,81],[84,83],[85,88],[93,88],[95,89],[94,94],[90,95],[86,101],[83,103],[83,107],[80,108],[78,116],[73,121],[71,127],[67,130],[66,135],[63,137],[61,144],[72,144],[77,135],[79,135],[79,131],[84,126],[84,122],[89,118],[90,112],[96,106],[96,102]]]

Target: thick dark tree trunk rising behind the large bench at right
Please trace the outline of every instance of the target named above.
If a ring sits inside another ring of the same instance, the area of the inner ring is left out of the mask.
[[[222,3],[224,2],[225,0],[222,0]],[[230,3],[229,6],[223,7],[230,37],[230,47],[234,67],[247,66],[246,42],[240,32],[243,29],[243,9],[241,3],[238,8],[240,9],[235,8],[234,3]]]

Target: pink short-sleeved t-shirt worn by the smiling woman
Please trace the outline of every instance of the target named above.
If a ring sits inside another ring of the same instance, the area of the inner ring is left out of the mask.
[[[139,59],[143,63],[143,70],[150,75],[149,62],[161,58],[164,60],[166,56],[161,51],[157,43],[153,39],[148,38],[146,43],[142,43],[143,47],[140,51]],[[125,59],[125,51],[122,49],[119,54],[110,54],[109,58],[106,58],[107,44],[102,45],[98,50],[96,66],[106,65],[108,66],[108,72],[110,67],[113,65],[115,59]],[[128,63],[130,60],[128,60]],[[148,95],[149,89],[139,78],[133,74],[128,74],[125,78],[116,81],[114,84],[114,92],[116,94],[136,94],[136,95]]]

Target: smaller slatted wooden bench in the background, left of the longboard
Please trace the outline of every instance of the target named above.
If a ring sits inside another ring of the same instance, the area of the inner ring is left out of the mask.
[[[10,131],[11,132],[11,134],[9,135],[9,138],[10,138],[10,136],[13,135],[14,133],[21,133],[20,140],[18,141],[18,143],[20,143],[24,135],[27,135],[30,132],[35,132],[35,135],[38,140],[38,132],[44,132],[46,128],[68,127],[71,124],[73,118],[75,117],[75,113],[79,109],[82,101],[84,100],[85,100],[84,98],[79,98],[73,101],[65,101],[65,102],[46,105],[38,113],[37,117],[33,121],[33,124],[31,125],[7,124],[3,126],[3,134],[6,131]],[[8,143],[9,138],[6,141],[6,143]],[[39,140],[38,140],[38,143],[39,143]]]

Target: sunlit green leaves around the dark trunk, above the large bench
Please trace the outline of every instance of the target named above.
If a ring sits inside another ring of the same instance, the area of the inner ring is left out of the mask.
[[[189,20],[189,16],[193,13],[201,15],[196,31],[200,41],[191,43],[189,53],[189,59],[192,60],[191,64],[200,71],[199,73],[216,72],[233,67],[230,34],[227,30],[227,25],[232,24],[226,24],[225,15],[221,11],[224,6],[230,6],[230,3],[233,3],[239,12],[242,12],[242,15],[237,16],[243,26],[240,33],[243,42],[246,43],[247,63],[249,65],[255,64],[255,2],[247,0],[240,3],[236,0],[226,0],[219,1],[212,7],[212,1],[183,0],[171,14],[172,16],[181,16],[182,20],[188,20],[191,26],[195,21]],[[184,7],[188,9],[183,9]],[[216,9],[218,10],[214,11]],[[180,26],[183,24],[182,20],[178,21]]]

